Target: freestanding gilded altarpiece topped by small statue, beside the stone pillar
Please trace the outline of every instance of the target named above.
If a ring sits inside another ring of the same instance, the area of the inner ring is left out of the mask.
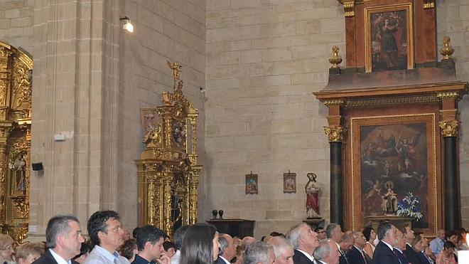
[[[141,109],[146,145],[138,167],[139,225],[155,225],[172,236],[179,226],[197,222],[198,111],[183,94],[181,66],[173,70],[173,93],[163,92],[163,105]]]

